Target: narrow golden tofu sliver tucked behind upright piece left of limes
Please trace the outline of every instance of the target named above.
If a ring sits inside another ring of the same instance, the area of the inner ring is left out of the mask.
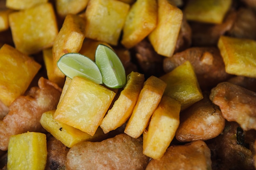
[[[63,87],[65,82],[65,77],[60,77],[54,74],[52,48],[47,48],[43,50],[43,60],[45,63],[48,79],[56,83],[59,87]]]

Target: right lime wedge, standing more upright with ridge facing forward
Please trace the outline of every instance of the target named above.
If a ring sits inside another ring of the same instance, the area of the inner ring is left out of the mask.
[[[111,48],[99,44],[95,52],[95,62],[101,70],[102,81],[107,87],[124,87],[126,84],[124,66]]]

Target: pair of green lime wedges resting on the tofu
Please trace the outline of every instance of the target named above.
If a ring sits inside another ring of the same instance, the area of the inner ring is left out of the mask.
[[[124,66],[119,57],[103,44],[96,49],[95,62],[79,53],[67,53],[58,60],[57,66],[69,78],[80,76],[110,88],[121,88],[126,84]]]

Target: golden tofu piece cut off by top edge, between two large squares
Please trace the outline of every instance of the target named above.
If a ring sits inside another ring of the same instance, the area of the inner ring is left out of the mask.
[[[56,0],[56,12],[59,16],[65,17],[67,14],[77,14],[83,11],[89,0]]]

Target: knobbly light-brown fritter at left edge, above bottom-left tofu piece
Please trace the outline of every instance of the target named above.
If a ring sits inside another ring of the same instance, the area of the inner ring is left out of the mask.
[[[32,87],[25,95],[16,98],[7,116],[0,120],[0,150],[7,150],[11,135],[43,131],[40,118],[45,111],[56,109],[61,88],[41,77],[38,87]]]

